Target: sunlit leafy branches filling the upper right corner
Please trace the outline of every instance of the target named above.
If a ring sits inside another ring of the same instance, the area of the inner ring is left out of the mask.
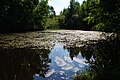
[[[120,2],[118,0],[87,0],[90,9],[86,20],[93,29],[100,31],[120,31]],[[102,24],[102,25],[101,25]]]

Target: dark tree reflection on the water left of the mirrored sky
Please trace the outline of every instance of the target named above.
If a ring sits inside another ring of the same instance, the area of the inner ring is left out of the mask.
[[[48,71],[49,50],[0,49],[0,80],[33,80]]]

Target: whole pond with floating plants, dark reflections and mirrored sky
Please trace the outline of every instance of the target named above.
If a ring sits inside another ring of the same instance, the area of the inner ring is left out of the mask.
[[[72,80],[88,68],[95,79],[120,80],[119,46],[119,35],[95,31],[0,34],[0,80]]]

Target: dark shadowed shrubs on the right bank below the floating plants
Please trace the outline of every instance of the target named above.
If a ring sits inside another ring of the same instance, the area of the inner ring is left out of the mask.
[[[120,35],[99,40],[92,48],[94,60],[90,61],[95,80],[120,80]]]

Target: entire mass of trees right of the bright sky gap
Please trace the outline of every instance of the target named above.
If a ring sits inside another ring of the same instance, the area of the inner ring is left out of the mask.
[[[71,0],[60,24],[66,29],[120,32],[119,6],[119,0],[85,0],[81,5]]]

